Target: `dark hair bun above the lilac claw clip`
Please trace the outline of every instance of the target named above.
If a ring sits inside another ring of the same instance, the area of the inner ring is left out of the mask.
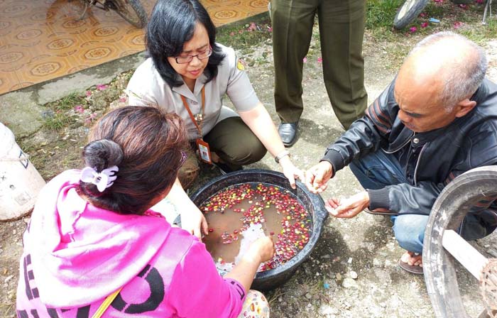
[[[123,148],[109,139],[100,139],[88,143],[83,148],[84,165],[94,168],[97,172],[113,165],[119,167],[124,158]]]

